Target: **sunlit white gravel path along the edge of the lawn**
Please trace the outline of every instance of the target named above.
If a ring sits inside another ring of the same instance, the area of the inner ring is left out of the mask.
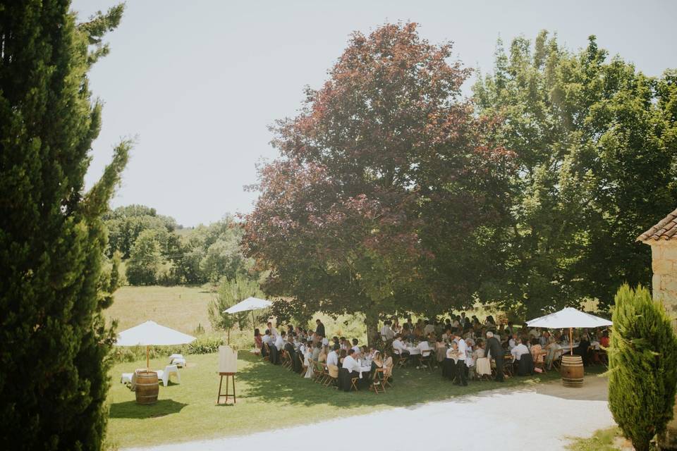
[[[585,378],[584,388],[560,382],[535,388],[492,390],[240,437],[133,448],[135,451],[346,451],[564,450],[568,437],[590,436],[614,425],[606,403],[606,379]],[[345,435],[345,431],[350,431]],[[305,445],[304,445],[305,444]],[[132,449],[130,449],[131,451]]]

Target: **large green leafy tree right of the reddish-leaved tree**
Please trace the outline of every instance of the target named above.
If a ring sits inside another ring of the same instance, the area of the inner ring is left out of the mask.
[[[504,282],[489,295],[533,316],[648,284],[650,252],[635,237],[677,200],[674,76],[608,58],[594,37],[572,52],[541,32],[507,52],[499,42],[474,91],[518,165],[497,237]]]

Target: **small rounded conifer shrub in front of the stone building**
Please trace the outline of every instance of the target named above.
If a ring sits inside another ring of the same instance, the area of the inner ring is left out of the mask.
[[[677,340],[649,290],[623,285],[615,297],[609,349],[609,409],[635,450],[649,449],[672,419]]]

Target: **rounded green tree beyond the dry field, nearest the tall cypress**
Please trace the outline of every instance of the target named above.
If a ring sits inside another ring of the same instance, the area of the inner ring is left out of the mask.
[[[157,231],[143,230],[134,242],[127,261],[128,282],[130,285],[155,285],[163,264]]]

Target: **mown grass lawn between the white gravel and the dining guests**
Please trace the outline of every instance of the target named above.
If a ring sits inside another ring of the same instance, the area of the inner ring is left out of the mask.
[[[135,394],[119,383],[121,373],[145,366],[145,362],[117,364],[111,370],[109,445],[130,447],[243,435],[559,379],[559,373],[550,371],[532,378],[511,378],[505,383],[470,382],[468,387],[458,387],[442,380],[439,370],[429,373],[404,369],[396,371],[394,386],[385,394],[367,390],[343,393],[263,362],[250,352],[240,351],[236,378],[238,402],[236,406],[216,406],[217,355],[189,355],[187,359],[188,367],[179,370],[181,383],[166,388],[160,386],[159,401],[152,406],[136,404]],[[153,369],[164,368],[164,365],[166,359],[151,360]]]

